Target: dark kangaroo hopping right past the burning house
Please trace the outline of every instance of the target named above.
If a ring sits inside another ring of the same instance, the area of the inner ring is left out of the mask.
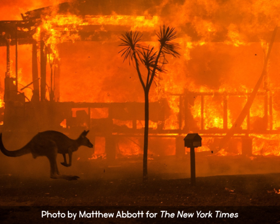
[[[63,155],[64,162],[61,165],[70,167],[72,165],[72,153],[77,151],[82,145],[89,148],[93,144],[86,138],[88,131],[84,131],[78,139],[68,138],[61,132],[45,131],[35,135],[25,146],[15,151],[7,150],[2,142],[2,133],[0,134],[0,150],[5,156],[18,157],[31,153],[35,159],[37,156],[46,156],[51,164],[51,178],[62,178],[66,180],[77,180],[79,176],[60,175],[57,169],[56,156],[57,153]],[[69,155],[69,164],[67,164],[66,154]]]

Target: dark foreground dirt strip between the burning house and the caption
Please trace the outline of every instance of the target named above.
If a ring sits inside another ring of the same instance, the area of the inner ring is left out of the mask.
[[[280,173],[190,179],[0,177],[0,206],[280,206]]]

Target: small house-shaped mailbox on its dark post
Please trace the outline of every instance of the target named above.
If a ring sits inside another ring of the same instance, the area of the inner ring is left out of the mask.
[[[191,184],[196,186],[196,156],[195,148],[201,147],[201,137],[197,133],[188,134],[185,139],[185,147],[191,148]]]

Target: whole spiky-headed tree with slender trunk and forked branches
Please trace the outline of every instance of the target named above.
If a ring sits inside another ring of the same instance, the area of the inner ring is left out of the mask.
[[[144,127],[144,148],[143,148],[143,181],[147,180],[148,167],[148,132],[149,132],[149,91],[157,72],[165,72],[163,65],[167,63],[165,55],[179,56],[177,43],[171,42],[176,38],[174,28],[160,28],[157,33],[160,47],[158,51],[154,51],[154,47],[145,47],[140,44],[141,36],[139,32],[127,31],[122,35],[120,46],[123,46],[119,53],[124,56],[124,60],[128,59],[135,65],[140,83],[145,95],[145,127]],[[143,78],[140,72],[140,64],[143,64],[147,69],[146,79]]]

